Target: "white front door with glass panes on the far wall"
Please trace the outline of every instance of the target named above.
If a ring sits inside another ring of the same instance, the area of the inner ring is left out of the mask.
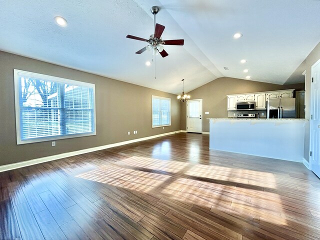
[[[186,131],[202,133],[202,99],[186,102]]]

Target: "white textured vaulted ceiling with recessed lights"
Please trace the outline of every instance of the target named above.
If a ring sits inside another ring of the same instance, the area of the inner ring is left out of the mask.
[[[156,79],[151,52],[134,53],[146,44],[125,38],[153,33],[152,5],[162,39],[184,38],[156,56]],[[182,78],[185,91],[221,76],[283,84],[320,41],[319,12],[319,0],[0,0],[0,50],[171,93]]]

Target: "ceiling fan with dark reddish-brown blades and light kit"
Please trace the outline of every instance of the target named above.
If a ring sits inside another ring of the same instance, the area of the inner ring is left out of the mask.
[[[154,22],[154,33],[150,35],[149,39],[145,39],[142,37],[138,36],[132,36],[132,35],[126,35],[127,38],[135,39],[135,40],[140,40],[140,41],[145,41],[149,43],[145,47],[141,48],[136,54],[141,54],[145,50],[153,50],[153,53],[157,53],[157,51],[160,53],[162,57],[165,57],[168,55],[168,53],[163,49],[163,45],[183,45],[184,40],[183,39],[174,39],[174,40],[162,40],[161,35],[164,30],[163,25],[159,23],[155,23],[155,14],[159,12],[159,7],[158,6],[152,6],[151,7],[151,12],[153,14],[153,22]]]

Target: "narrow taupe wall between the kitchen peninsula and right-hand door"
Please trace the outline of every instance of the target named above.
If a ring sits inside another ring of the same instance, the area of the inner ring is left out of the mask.
[[[320,59],[320,42],[305,58],[305,118],[310,119],[310,91],[311,91],[311,66]],[[309,161],[310,151],[310,122],[305,126],[304,158]]]

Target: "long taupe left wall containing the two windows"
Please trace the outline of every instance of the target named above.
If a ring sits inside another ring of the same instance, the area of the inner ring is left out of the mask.
[[[96,135],[17,145],[14,68],[94,83]],[[151,127],[151,95],[171,98],[171,126]],[[0,165],[180,130],[180,106],[170,93],[0,51]]]

